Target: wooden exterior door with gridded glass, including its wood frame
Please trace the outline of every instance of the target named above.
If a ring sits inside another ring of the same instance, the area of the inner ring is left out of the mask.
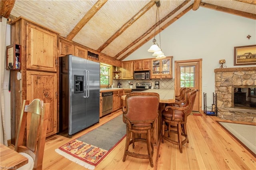
[[[202,59],[175,61],[175,90],[181,87],[198,89],[193,111],[202,111]]]

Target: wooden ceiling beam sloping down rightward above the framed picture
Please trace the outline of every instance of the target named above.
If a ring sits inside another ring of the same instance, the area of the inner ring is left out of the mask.
[[[226,8],[226,7],[222,7],[222,6],[207,4],[207,3],[204,3],[204,2],[201,2],[200,6],[205,7],[205,8],[209,8],[209,9],[212,9],[212,10],[226,12],[226,13],[229,13],[229,14],[234,14],[234,15],[237,15],[237,16],[242,16],[242,17],[245,17],[245,18],[250,18],[250,19],[256,20],[256,14],[252,14],[252,13],[249,13],[249,12],[234,10],[234,9],[230,9],[230,8]]]

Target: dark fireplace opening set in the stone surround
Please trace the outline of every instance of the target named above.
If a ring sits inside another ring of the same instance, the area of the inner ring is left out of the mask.
[[[232,107],[256,109],[256,86],[232,86]]]

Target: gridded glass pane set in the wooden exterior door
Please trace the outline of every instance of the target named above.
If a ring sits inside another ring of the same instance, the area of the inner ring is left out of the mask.
[[[195,68],[194,65],[180,67],[180,87],[195,87]]]

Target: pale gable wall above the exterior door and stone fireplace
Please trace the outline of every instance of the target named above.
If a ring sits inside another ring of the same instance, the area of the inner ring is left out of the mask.
[[[160,34],[162,51],[173,56],[173,61],[203,59],[202,84],[206,86],[202,87],[202,93],[207,93],[207,106],[213,102],[214,69],[220,67],[220,59],[226,60],[224,66],[228,68],[256,66],[234,66],[234,47],[256,44],[256,20],[200,7],[190,10]],[[252,36],[250,40],[246,38],[248,35]],[[156,38],[159,43],[159,35]],[[152,40],[125,61],[151,58],[152,53],[147,51],[151,45]]]

